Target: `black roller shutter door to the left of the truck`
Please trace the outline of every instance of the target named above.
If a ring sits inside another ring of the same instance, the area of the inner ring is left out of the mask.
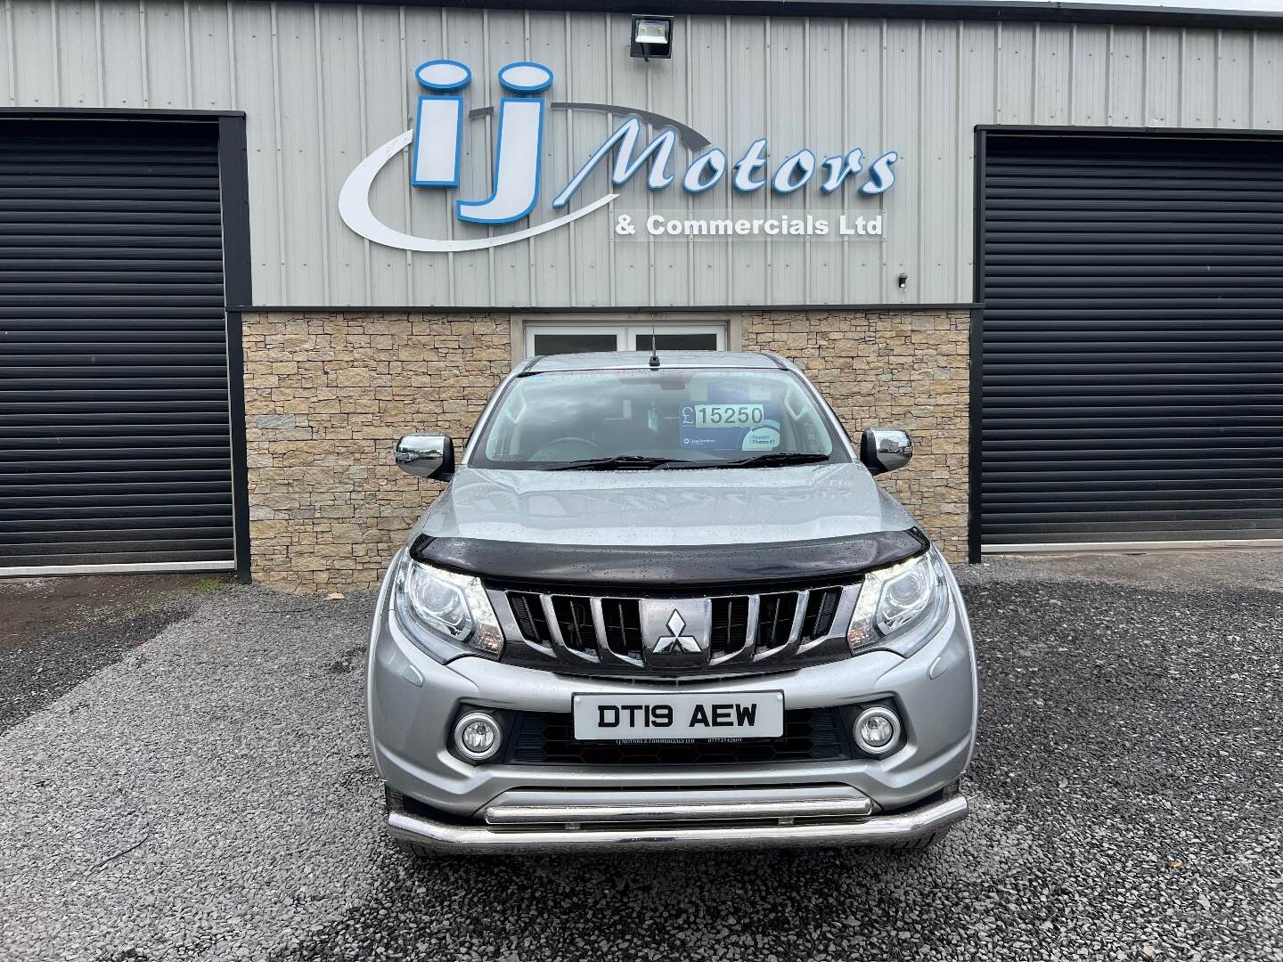
[[[0,573],[232,564],[212,127],[0,122]]]

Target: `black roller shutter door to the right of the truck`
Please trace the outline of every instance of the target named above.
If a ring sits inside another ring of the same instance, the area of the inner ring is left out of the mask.
[[[1283,536],[1283,146],[983,137],[983,546]]]

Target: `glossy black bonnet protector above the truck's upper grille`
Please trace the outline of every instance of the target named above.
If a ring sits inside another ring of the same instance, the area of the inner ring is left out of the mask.
[[[916,528],[765,544],[561,545],[420,535],[411,557],[517,585],[688,590],[704,585],[781,585],[840,580],[930,546]]]

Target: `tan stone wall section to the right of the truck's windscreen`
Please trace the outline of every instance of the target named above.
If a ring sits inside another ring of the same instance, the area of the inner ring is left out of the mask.
[[[922,522],[949,561],[966,561],[967,312],[742,317],[744,350],[774,350],[797,363],[853,441],[866,427],[908,431],[913,459],[880,484]]]

